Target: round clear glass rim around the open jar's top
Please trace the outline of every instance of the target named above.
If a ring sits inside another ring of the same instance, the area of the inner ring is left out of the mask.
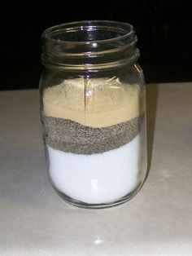
[[[76,31],[95,31],[98,29],[108,29],[111,31],[116,31],[118,29],[119,35],[112,37],[112,38],[104,38],[104,39],[97,39],[97,40],[66,40],[63,38],[57,38],[58,35],[62,33],[74,33]],[[42,35],[42,39],[49,40],[50,42],[59,42],[64,44],[93,44],[95,43],[107,43],[107,42],[117,42],[121,41],[122,39],[129,38],[134,33],[133,25],[129,23],[124,23],[121,21],[114,21],[114,20],[82,20],[82,21],[74,21],[69,23],[57,24],[46,29]]]

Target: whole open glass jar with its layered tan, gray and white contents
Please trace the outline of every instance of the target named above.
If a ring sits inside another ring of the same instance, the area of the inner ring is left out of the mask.
[[[41,122],[50,182],[84,208],[120,205],[146,176],[145,82],[131,24],[81,21],[42,33]]]

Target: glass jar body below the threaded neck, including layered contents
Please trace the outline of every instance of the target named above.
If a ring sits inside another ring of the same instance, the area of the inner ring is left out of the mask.
[[[132,198],[146,176],[145,83],[138,64],[48,67],[40,92],[47,169],[59,195],[85,208]]]

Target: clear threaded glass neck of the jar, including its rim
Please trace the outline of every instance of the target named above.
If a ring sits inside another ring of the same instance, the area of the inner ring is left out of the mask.
[[[41,38],[41,60],[48,68],[113,68],[139,57],[133,26],[117,21],[59,24],[46,29]]]

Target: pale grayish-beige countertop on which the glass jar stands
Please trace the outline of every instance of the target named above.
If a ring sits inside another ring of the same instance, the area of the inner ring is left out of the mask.
[[[38,91],[1,91],[0,255],[191,256],[192,82],[147,85],[147,110],[142,190],[115,208],[80,210],[48,181]]]

